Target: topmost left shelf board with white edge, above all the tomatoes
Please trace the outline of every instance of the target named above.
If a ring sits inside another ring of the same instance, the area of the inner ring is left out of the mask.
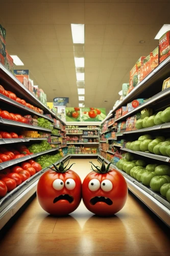
[[[19,91],[19,93],[22,94],[23,97],[28,99],[28,101],[31,102],[33,105],[36,104],[38,108],[42,109],[43,111],[46,111],[47,113],[50,113],[52,116],[54,116],[64,125],[66,125],[66,123],[63,120],[56,116],[56,114],[53,111],[48,109],[47,106],[45,106],[37,97],[35,97],[35,95],[33,95],[25,86],[23,86],[23,84],[11,72],[9,72],[2,65],[2,63],[0,63],[0,77],[1,80],[7,82],[10,85],[10,87],[13,88],[15,91]]]

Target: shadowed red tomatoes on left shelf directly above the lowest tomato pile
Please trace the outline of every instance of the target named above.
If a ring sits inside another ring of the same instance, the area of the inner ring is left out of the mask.
[[[30,153],[29,149],[25,145],[17,146],[17,150],[11,147],[8,148],[8,147],[2,146],[0,147],[0,164],[2,162],[10,161],[13,159],[25,157],[32,154],[33,153]]]

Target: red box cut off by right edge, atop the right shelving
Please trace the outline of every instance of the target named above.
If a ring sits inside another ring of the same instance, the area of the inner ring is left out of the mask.
[[[159,39],[159,63],[170,55],[170,31]]]

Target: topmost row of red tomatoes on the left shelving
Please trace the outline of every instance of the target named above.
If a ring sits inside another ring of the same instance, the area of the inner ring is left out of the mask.
[[[15,93],[12,93],[10,91],[6,91],[4,89],[4,87],[1,86],[1,85],[0,85],[0,93],[3,94],[4,96],[10,98],[10,99],[13,99],[13,100],[17,101],[18,103],[20,103],[22,105],[27,106],[27,108],[29,108],[29,109],[32,109],[32,110],[34,110],[34,111],[36,111],[36,112],[38,112],[40,114],[43,113],[42,110],[40,110],[39,108],[36,108],[36,106],[33,106],[33,105],[27,103],[24,99],[18,98]]]

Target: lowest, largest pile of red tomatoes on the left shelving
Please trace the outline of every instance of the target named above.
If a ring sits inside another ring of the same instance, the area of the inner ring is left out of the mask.
[[[42,169],[33,159],[0,171],[0,198]]]

